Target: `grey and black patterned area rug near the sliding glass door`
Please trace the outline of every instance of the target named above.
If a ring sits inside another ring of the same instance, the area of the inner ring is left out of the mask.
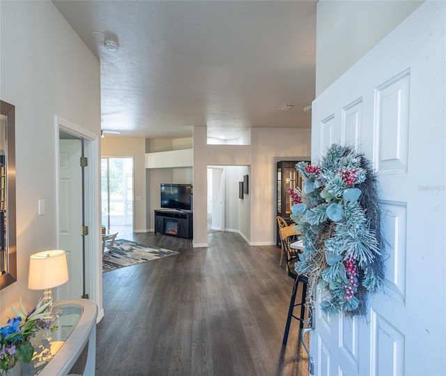
[[[118,239],[114,241],[112,251],[102,255],[102,273],[124,266],[141,264],[160,257],[177,255],[179,252],[168,250],[134,241]]]

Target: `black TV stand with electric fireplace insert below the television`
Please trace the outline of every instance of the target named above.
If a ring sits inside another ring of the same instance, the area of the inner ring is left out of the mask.
[[[179,209],[155,210],[155,234],[192,239],[194,234],[192,211]]]

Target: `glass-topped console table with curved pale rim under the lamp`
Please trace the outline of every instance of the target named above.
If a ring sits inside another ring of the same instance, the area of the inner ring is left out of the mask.
[[[54,329],[36,333],[33,360],[21,364],[22,375],[68,375],[87,343],[84,374],[94,375],[98,306],[87,299],[70,299],[54,303],[53,312],[59,312],[52,322]]]

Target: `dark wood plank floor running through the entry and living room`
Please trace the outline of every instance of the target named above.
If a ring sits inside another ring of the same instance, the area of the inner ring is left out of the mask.
[[[280,248],[230,232],[208,234],[208,248],[153,233],[122,238],[180,254],[103,274],[96,375],[308,375],[297,321],[282,347],[293,280],[278,266]]]

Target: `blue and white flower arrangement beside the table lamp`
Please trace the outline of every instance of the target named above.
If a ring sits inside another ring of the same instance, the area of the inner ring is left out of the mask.
[[[17,361],[23,363],[31,362],[33,357],[33,346],[31,338],[40,329],[49,329],[51,320],[45,320],[45,311],[50,303],[43,303],[40,299],[37,306],[26,313],[20,301],[20,310],[12,307],[17,317],[8,319],[8,324],[0,328],[0,370],[8,372]]]

